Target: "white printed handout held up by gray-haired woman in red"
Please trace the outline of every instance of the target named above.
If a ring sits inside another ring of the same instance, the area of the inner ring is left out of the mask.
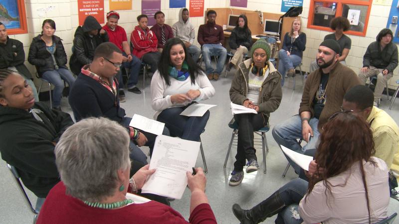
[[[199,150],[198,141],[158,135],[150,162],[150,169],[156,171],[141,192],[181,199],[187,187],[186,172],[193,171]]]

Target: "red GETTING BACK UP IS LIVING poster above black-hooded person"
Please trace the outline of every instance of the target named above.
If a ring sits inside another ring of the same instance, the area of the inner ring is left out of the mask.
[[[83,25],[88,15],[94,16],[100,24],[103,24],[104,0],[78,0],[79,25]]]

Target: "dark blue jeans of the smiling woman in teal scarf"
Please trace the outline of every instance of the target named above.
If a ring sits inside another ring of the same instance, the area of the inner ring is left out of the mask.
[[[171,132],[171,136],[199,141],[200,134],[205,129],[210,113],[207,111],[203,116],[180,115],[188,106],[165,109],[158,115],[157,120],[165,123],[165,126]]]

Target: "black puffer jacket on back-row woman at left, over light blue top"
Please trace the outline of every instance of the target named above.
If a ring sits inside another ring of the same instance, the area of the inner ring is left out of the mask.
[[[41,77],[44,72],[54,70],[54,62],[50,52],[46,49],[46,43],[37,35],[32,39],[29,47],[28,62],[38,69],[37,73]],[[65,65],[67,62],[64,46],[61,38],[53,35],[53,43],[55,43],[55,61],[59,68],[68,69]]]

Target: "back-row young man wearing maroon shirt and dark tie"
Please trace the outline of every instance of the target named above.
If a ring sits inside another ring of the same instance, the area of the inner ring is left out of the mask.
[[[162,11],[155,12],[154,18],[157,21],[157,24],[153,25],[150,30],[152,30],[155,36],[157,36],[157,48],[158,51],[162,53],[166,41],[174,37],[173,31],[170,25],[165,24],[165,14]]]

